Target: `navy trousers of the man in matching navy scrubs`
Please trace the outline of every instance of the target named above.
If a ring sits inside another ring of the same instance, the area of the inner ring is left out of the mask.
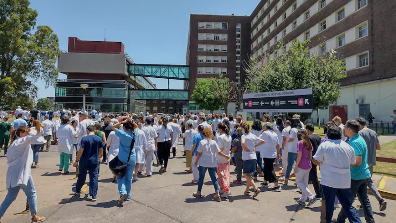
[[[78,178],[76,183],[76,190],[80,191],[85,184],[87,178],[87,171],[90,174],[90,195],[96,197],[98,193],[98,174],[99,174],[99,163],[80,163],[78,166]]]

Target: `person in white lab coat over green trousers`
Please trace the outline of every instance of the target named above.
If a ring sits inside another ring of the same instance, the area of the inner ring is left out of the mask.
[[[56,132],[58,138],[58,152],[60,153],[59,172],[64,170],[64,174],[69,173],[69,160],[73,154],[73,139],[77,138],[77,133],[74,131],[73,126],[70,125],[70,118],[65,118],[62,125]],[[64,168],[64,169],[63,169]]]

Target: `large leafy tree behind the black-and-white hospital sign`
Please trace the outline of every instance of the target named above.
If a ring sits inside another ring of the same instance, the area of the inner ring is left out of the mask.
[[[294,41],[286,51],[281,43],[273,56],[251,57],[246,71],[249,92],[271,92],[312,88],[313,110],[327,107],[340,97],[340,80],[345,78],[345,62],[331,50],[310,54],[308,41]],[[301,115],[304,120],[309,114]]]

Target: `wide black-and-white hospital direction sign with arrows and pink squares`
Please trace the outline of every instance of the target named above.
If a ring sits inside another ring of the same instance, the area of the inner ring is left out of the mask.
[[[248,112],[312,112],[312,88],[244,95],[244,111]]]

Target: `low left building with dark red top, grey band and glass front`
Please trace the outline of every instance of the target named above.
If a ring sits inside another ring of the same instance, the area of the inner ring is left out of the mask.
[[[87,111],[145,112],[146,101],[136,100],[131,107],[130,89],[155,89],[155,85],[147,77],[130,76],[127,65],[132,63],[121,42],[70,37],[68,52],[58,59],[58,69],[67,79],[56,83],[55,108],[81,109],[85,94]],[[89,86],[84,90],[81,84]]]

